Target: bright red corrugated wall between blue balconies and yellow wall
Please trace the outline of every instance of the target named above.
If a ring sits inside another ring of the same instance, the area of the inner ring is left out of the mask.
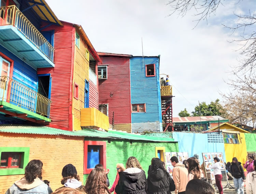
[[[67,127],[71,131],[72,112],[70,112],[70,108],[72,105],[71,86],[73,79],[73,42],[75,29],[72,24],[65,22],[62,22],[62,24],[63,26],[52,25],[43,30],[54,30],[55,67],[40,68],[38,69],[38,74],[51,73],[52,76],[51,124]]]

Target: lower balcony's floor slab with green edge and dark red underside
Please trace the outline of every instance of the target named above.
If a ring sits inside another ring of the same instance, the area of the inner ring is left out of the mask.
[[[33,113],[32,111],[20,108],[5,101],[0,101],[0,112],[6,115],[10,115],[11,117],[29,120],[35,123],[51,122],[51,119],[47,117]]]

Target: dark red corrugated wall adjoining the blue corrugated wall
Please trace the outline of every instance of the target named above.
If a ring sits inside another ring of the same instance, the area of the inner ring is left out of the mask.
[[[131,123],[130,60],[124,57],[101,57],[108,65],[107,79],[99,79],[99,104],[109,104],[109,122]],[[113,96],[110,96],[110,93]]]

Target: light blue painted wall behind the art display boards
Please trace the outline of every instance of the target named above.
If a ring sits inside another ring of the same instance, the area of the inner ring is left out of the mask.
[[[222,152],[224,162],[230,162],[226,161],[224,143],[208,143],[207,134],[173,132],[172,138],[174,141],[178,141],[179,152],[188,152],[189,157],[193,157],[194,154],[198,154],[200,164],[202,164],[203,161],[202,153],[213,152]]]

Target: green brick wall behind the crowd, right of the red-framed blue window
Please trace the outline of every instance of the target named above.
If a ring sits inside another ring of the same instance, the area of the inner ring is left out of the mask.
[[[115,140],[108,143],[106,141],[106,167],[110,169],[109,182],[110,187],[112,186],[116,177],[116,164],[126,164],[127,159],[130,156],[135,156],[147,176],[148,166],[151,163],[151,159],[156,157],[155,147],[165,147],[166,152],[179,152],[177,142],[134,142],[130,144],[130,141],[126,140]],[[84,175],[84,182],[88,175]]]

